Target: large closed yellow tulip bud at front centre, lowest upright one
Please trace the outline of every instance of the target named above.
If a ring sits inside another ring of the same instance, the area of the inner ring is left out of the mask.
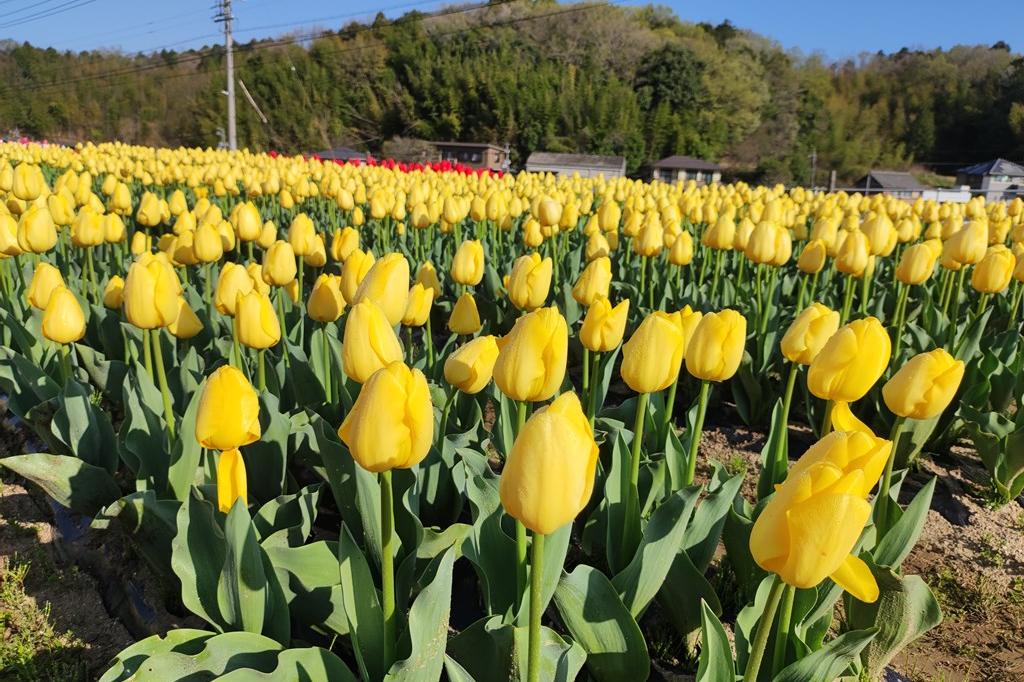
[[[502,506],[534,532],[554,532],[590,502],[597,458],[580,398],[562,393],[516,436],[499,483]]]

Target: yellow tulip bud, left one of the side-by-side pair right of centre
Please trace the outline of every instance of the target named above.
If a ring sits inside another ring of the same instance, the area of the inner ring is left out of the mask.
[[[668,388],[679,376],[685,343],[680,313],[655,310],[623,345],[623,380],[637,393]]]

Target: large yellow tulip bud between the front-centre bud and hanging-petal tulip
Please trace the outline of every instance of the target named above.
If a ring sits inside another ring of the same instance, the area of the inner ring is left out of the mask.
[[[372,304],[360,303],[352,312],[359,305]],[[415,467],[430,452],[434,438],[434,409],[426,377],[401,361],[375,372],[338,435],[367,471]]]

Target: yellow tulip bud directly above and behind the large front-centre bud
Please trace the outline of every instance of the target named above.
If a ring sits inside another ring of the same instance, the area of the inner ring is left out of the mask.
[[[568,326],[558,308],[539,308],[519,317],[499,343],[495,383],[513,400],[551,398],[565,378]]]

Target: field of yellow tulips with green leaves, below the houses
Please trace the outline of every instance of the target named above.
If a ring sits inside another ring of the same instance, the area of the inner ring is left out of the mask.
[[[0,254],[0,473],[197,625],[103,682],[881,679],[1024,491],[1019,198],[4,143]]]

